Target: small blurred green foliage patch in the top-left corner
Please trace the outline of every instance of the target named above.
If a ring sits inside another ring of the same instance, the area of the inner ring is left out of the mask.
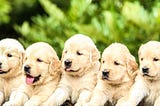
[[[0,25],[10,21],[9,13],[11,11],[10,2],[7,0],[0,0]]]

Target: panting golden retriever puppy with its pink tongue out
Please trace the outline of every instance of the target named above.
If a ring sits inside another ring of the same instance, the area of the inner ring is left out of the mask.
[[[49,44],[37,42],[26,49],[23,70],[25,82],[5,106],[41,105],[58,85],[61,63]]]

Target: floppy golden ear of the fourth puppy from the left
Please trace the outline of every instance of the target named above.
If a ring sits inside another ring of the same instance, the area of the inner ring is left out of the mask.
[[[127,61],[127,72],[131,78],[134,78],[137,74],[138,64],[136,63],[135,58],[130,55]]]

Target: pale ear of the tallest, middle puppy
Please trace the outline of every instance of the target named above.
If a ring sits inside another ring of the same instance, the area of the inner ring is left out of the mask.
[[[96,47],[94,47],[91,50],[90,56],[91,56],[91,58],[90,58],[91,62],[95,62],[95,61],[98,61],[100,59],[100,52],[98,51],[98,49]]]

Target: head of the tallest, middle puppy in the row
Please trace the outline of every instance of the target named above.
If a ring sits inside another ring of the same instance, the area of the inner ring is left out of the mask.
[[[80,76],[99,58],[100,53],[93,41],[85,35],[76,34],[65,42],[62,67],[67,74]]]

